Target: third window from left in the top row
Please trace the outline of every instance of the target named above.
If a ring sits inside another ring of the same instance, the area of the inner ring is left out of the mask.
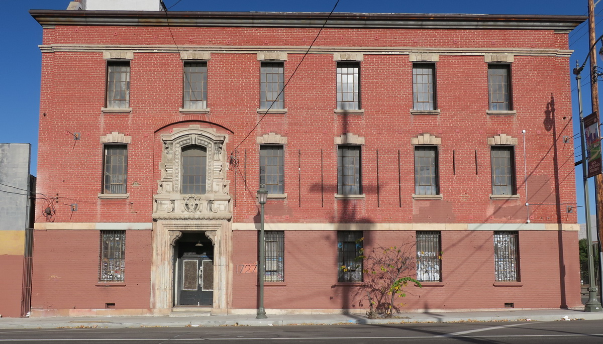
[[[284,71],[283,62],[260,63],[260,108],[285,108],[285,92],[281,92],[285,82]]]

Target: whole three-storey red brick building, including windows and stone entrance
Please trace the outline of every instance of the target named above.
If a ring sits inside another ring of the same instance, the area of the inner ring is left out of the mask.
[[[34,316],[254,313],[260,184],[268,314],[364,312],[361,246],[409,249],[402,311],[581,305],[586,17],[31,15]]]

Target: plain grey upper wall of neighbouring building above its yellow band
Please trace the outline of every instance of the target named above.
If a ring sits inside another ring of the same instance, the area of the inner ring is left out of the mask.
[[[31,145],[0,143],[0,230],[25,230]],[[21,189],[21,190],[20,190]]]

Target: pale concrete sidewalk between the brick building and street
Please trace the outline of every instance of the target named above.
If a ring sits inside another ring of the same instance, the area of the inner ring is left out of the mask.
[[[368,319],[364,314],[267,314],[228,316],[122,316],[122,317],[35,317],[0,318],[0,328],[127,328],[127,327],[209,327],[280,326],[336,324],[403,324],[415,322],[564,321],[603,320],[603,312],[582,310],[500,310],[442,313],[402,313],[392,319]]]

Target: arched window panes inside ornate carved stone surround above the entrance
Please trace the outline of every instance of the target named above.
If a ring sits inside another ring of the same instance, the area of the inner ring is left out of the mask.
[[[188,146],[182,149],[182,188],[180,193],[201,195],[207,180],[207,149]]]

